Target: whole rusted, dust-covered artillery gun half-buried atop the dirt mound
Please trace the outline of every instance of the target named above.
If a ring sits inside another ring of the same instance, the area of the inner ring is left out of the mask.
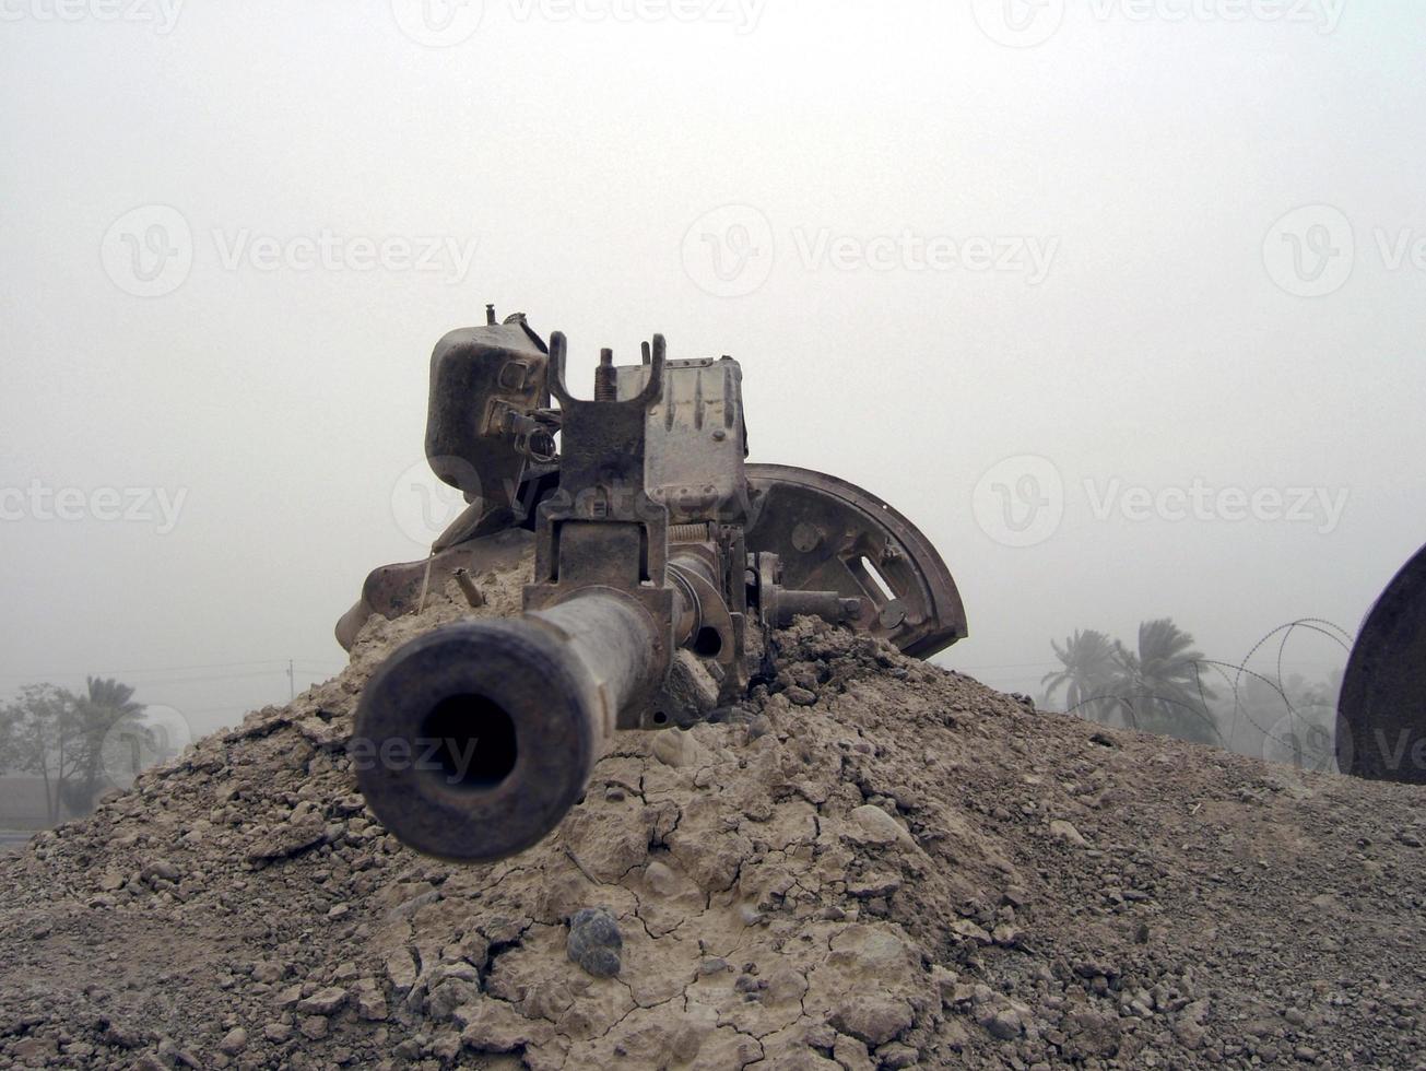
[[[424,562],[375,570],[338,623],[419,609],[431,583],[522,560],[523,613],[435,629],[362,695],[358,782],[411,847],[482,863],[522,851],[580,799],[617,730],[720,717],[776,675],[771,635],[800,615],[928,657],[965,636],[925,536],[834,476],[744,461],[729,357],[639,364],[600,352],[570,395],[566,339],[523,315],[455,331],[431,359],[426,456],[468,509]],[[552,405],[558,402],[558,408]],[[558,441],[558,446],[556,446]],[[395,744],[395,747],[392,747]],[[406,762],[375,756],[405,756]]]

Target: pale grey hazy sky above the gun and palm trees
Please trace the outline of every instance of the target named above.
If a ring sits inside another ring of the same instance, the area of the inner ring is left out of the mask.
[[[1355,630],[1426,540],[1423,41],[1415,0],[0,0],[0,693],[118,672],[201,732],[335,672],[488,301],[576,382],[737,357],[754,459],[921,525],[995,686],[1074,627]]]

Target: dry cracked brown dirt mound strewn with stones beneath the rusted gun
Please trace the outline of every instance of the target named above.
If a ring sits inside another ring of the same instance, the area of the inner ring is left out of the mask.
[[[733,722],[620,736],[535,850],[415,856],[345,742],[451,595],[0,860],[0,1065],[1426,1061],[1420,789],[1038,714],[820,623]]]

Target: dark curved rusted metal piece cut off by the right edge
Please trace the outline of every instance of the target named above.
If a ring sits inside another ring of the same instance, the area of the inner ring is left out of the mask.
[[[1376,600],[1338,699],[1342,773],[1426,784],[1426,546]]]

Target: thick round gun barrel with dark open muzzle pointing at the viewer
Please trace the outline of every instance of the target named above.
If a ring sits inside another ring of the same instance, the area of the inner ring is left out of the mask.
[[[366,803],[441,859],[533,846],[583,794],[619,710],[655,683],[653,629],[635,600],[596,589],[405,645],[356,712],[349,750]]]

